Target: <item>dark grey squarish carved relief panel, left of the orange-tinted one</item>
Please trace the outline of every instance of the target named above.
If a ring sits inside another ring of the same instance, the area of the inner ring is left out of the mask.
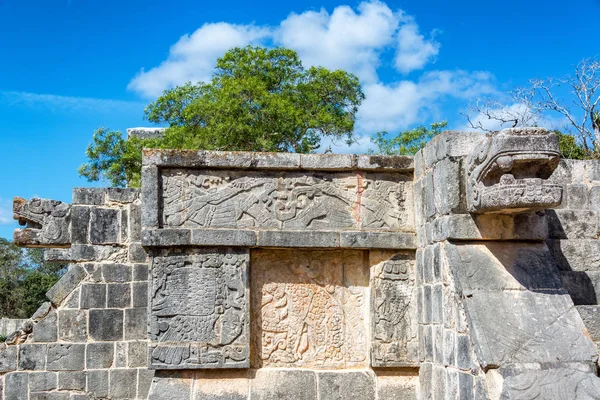
[[[175,250],[155,255],[150,293],[150,367],[249,366],[249,255]]]

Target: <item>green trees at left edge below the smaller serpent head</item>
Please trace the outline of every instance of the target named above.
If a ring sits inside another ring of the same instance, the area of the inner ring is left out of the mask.
[[[29,318],[65,270],[44,261],[42,249],[21,249],[0,238],[0,318]]]

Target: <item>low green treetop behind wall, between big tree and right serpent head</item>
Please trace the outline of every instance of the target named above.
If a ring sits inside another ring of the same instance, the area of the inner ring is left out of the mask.
[[[448,126],[448,122],[435,122],[431,128],[419,126],[414,129],[400,132],[392,138],[387,138],[387,132],[378,132],[371,139],[377,145],[378,154],[386,155],[413,155],[421,150],[427,142],[439,135]]]

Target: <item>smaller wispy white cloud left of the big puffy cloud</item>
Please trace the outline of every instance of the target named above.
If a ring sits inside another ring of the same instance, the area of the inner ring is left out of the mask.
[[[169,57],[158,67],[140,71],[128,89],[146,97],[185,82],[210,79],[217,58],[233,47],[256,44],[270,35],[270,29],[225,22],[204,24],[191,35],[183,35],[171,46]]]

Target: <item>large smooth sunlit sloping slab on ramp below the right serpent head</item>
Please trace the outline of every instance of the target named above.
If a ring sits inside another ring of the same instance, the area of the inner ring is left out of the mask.
[[[484,368],[557,359],[591,362],[597,357],[568,295],[478,291],[465,299],[465,308],[475,352]]]

